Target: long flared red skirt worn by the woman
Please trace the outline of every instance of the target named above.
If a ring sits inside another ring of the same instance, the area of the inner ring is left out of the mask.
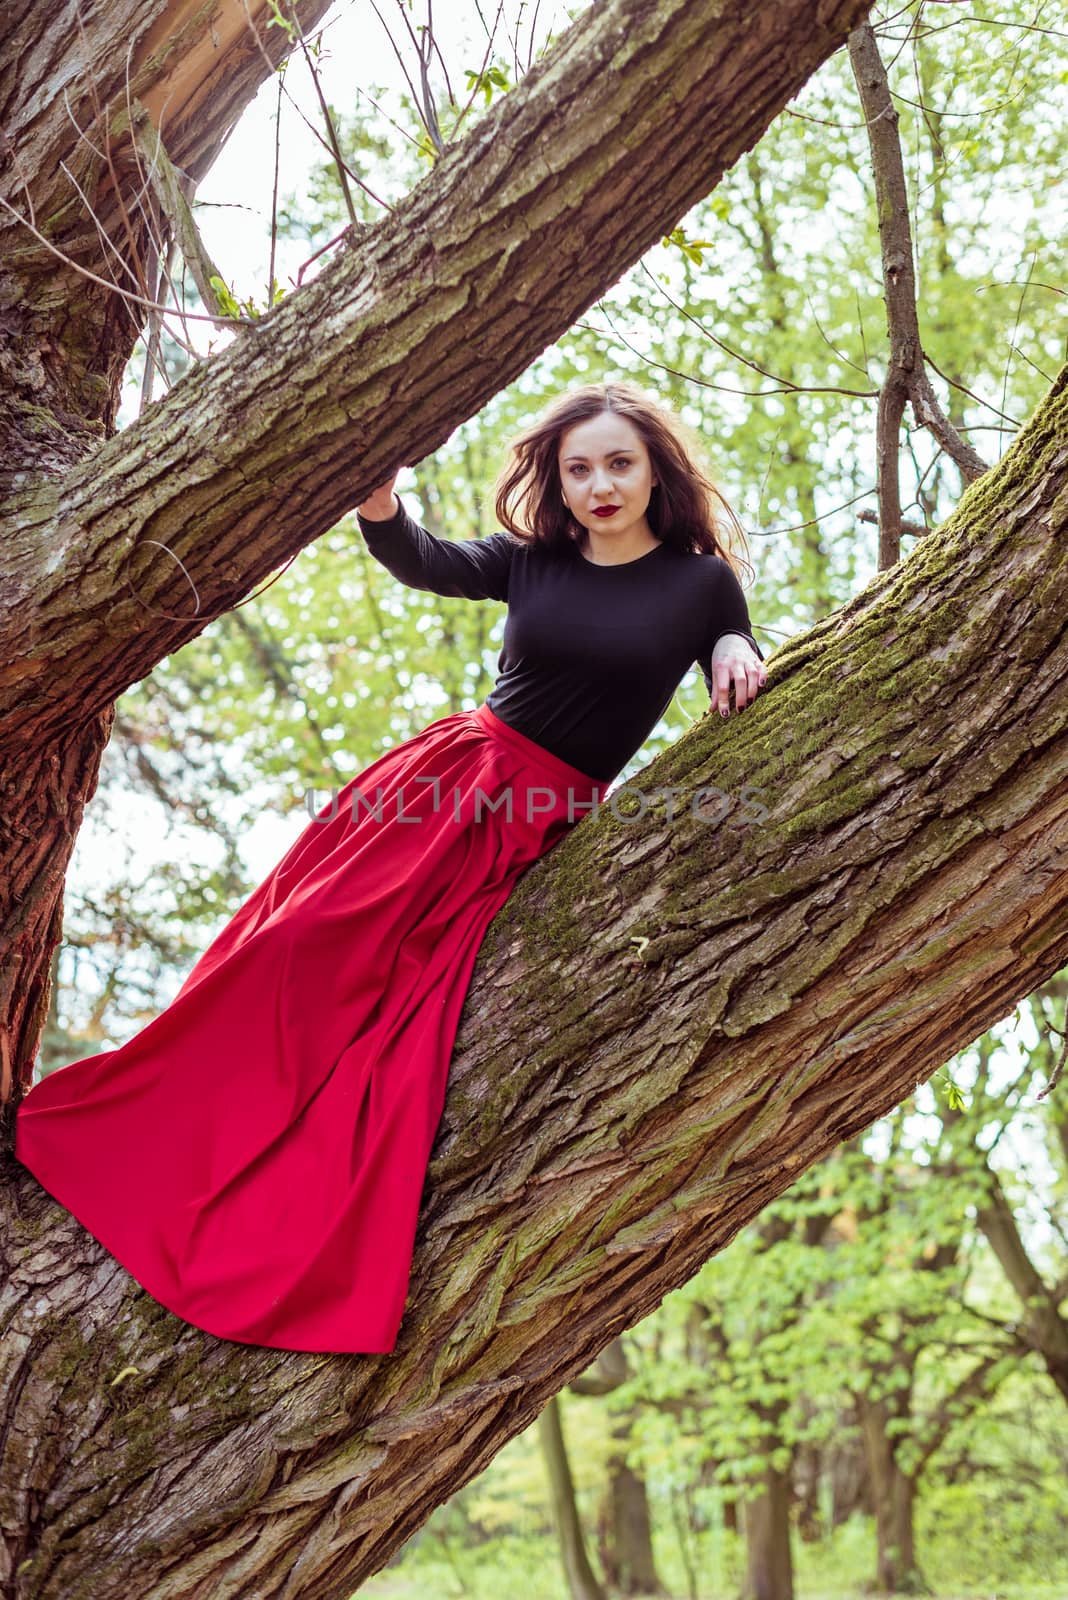
[[[176,998],[22,1099],[16,1158],[185,1322],[392,1350],[478,947],[608,786],[488,706],[309,822]]]

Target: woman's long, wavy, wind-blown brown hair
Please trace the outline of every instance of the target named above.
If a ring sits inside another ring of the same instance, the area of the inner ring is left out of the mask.
[[[603,411],[625,416],[641,434],[657,483],[646,517],[657,539],[679,550],[721,555],[735,578],[753,576],[745,530],[723,493],[699,464],[700,437],[675,411],[638,384],[614,378],[568,389],[508,445],[508,461],[494,485],[497,523],[529,544],[563,549],[582,528],[563,501],[556,454],[560,438],[576,422]]]

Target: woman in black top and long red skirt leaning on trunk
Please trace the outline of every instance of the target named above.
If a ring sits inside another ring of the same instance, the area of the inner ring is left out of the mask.
[[[721,715],[764,683],[716,491],[630,382],[512,446],[505,531],[358,507],[403,582],[507,600],[499,677],[353,778],[118,1050],[50,1074],[16,1157],[163,1306],[219,1338],[392,1350],[480,942],[604,798],[699,661]]]

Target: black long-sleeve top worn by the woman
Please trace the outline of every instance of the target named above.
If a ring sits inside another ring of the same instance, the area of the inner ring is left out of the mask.
[[[440,539],[400,496],[398,506],[389,522],[358,515],[371,555],[411,589],[505,600],[486,704],[600,782],[641,749],[694,661],[713,691],[710,658],[723,634],[743,634],[763,659],[742,586],[721,555],[660,542],[601,566],[577,546],[548,550],[510,533]]]

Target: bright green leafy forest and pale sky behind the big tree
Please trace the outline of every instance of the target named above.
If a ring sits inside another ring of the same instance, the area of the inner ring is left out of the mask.
[[[313,274],[353,216],[374,222],[435,160],[435,117],[448,134],[470,98],[470,126],[579,10],[531,24],[520,6],[496,29],[459,0],[331,13],[200,187],[227,293],[264,307],[269,277],[286,291],[302,264]],[[428,19],[441,54],[427,93]],[[932,382],[993,464],[1068,342],[1063,11],[887,5],[873,24]],[[748,533],[764,654],[841,606],[878,562],[887,331],[870,162],[839,51],[671,238],[401,477],[408,504],[443,536],[494,531],[508,437],[561,387],[625,374],[703,440]],[[192,282],[182,294],[203,309]],[[152,362],[139,347],[125,422],[225,342],[205,328],[185,325],[192,354],[166,330]],[[962,480],[915,427],[902,474],[908,560]],[[40,1070],[166,1005],[307,822],[310,790],[321,803],[382,749],[484,699],[502,626],[502,606],[403,590],[350,517],[128,691],[75,848]],[[619,782],[705,706],[694,669]],[[871,1582],[1063,1595],[1068,1110],[1063,1085],[1042,1091],[1066,1003],[1062,973],[807,1171],[361,1592],[703,1597],[755,1592],[771,1563],[775,1597]]]

